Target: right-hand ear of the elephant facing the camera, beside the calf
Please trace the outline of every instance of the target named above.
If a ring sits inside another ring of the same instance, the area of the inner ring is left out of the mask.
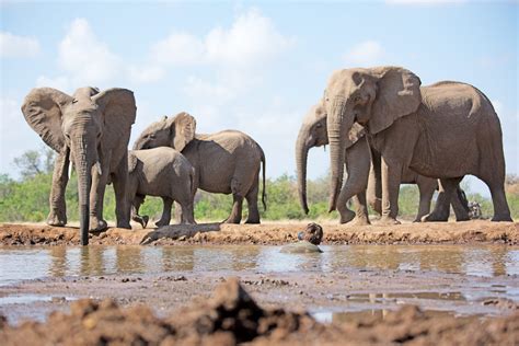
[[[92,96],[104,114],[104,142],[128,142],[137,106],[134,92],[128,89],[107,89]]]

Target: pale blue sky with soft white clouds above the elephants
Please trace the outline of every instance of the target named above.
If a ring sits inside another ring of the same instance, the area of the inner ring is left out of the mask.
[[[507,173],[519,174],[517,2],[2,0],[0,11],[0,173],[13,177],[13,159],[45,146],[20,111],[35,86],[132,90],[130,146],[180,112],[195,116],[198,132],[242,130],[277,177],[295,175],[301,120],[331,73],[381,65],[403,66],[423,85],[482,90],[501,122]],[[310,178],[328,166],[328,152],[310,151]]]

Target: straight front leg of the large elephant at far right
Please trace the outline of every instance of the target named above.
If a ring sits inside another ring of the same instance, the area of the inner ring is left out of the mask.
[[[399,193],[402,181],[402,164],[388,162],[382,158],[382,218],[384,224],[400,224],[396,220],[399,215]]]

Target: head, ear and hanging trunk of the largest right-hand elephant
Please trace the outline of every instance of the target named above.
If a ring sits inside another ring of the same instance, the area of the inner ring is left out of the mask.
[[[343,184],[346,135],[354,123],[364,125],[370,135],[387,129],[418,108],[419,86],[418,77],[399,67],[345,69],[332,74],[324,96],[332,170],[330,210],[335,210]]]

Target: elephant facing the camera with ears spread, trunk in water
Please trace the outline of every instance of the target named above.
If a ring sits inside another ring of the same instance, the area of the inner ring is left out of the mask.
[[[114,182],[117,227],[130,229],[126,200],[128,141],[136,118],[134,93],[127,89],[80,88],[72,96],[51,88],[33,89],[22,113],[27,124],[53,148],[56,158],[47,223],[65,226],[65,189],[70,161],[78,173],[81,244],[89,230],[107,228],[103,198],[108,177]]]

